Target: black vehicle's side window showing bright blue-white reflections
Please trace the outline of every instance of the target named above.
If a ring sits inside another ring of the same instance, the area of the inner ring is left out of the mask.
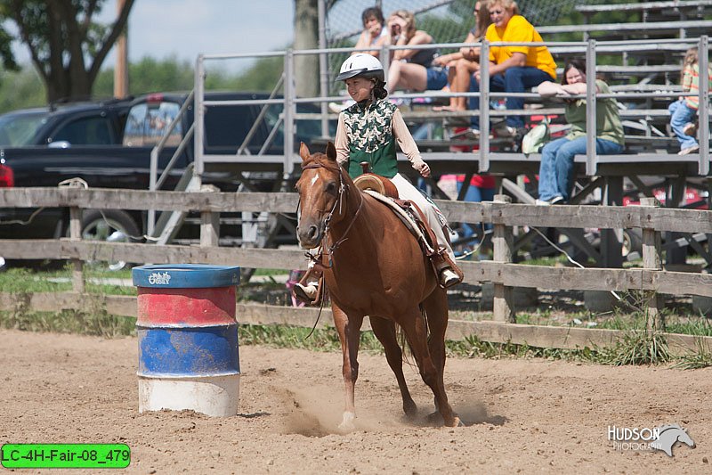
[[[124,129],[124,145],[128,147],[152,146],[160,142],[171,123],[178,117],[181,107],[176,102],[150,102],[134,105],[128,113]],[[182,139],[179,121],[166,141],[177,146]]]

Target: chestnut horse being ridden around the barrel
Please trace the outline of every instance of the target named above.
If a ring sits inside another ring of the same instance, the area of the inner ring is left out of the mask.
[[[383,203],[361,192],[336,162],[336,148],[309,152],[302,143],[302,176],[296,183],[301,202],[297,237],[304,249],[323,243],[323,273],[344,356],[345,408],[339,426],[352,430],[353,390],[359,376],[359,340],[368,315],[376,338],[395,373],[408,416],[417,408],[403,376],[398,324],[415,356],[420,375],[435,396],[445,425],[461,425],[448,403],[442,373],[448,297],[416,238]]]

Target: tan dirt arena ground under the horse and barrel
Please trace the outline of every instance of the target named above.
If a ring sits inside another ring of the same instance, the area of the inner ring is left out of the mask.
[[[466,427],[449,429],[425,422],[433,398],[414,369],[422,418],[405,422],[384,357],[361,355],[358,430],[341,434],[340,360],[243,346],[238,416],[138,414],[134,338],[0,331],[0,443],[125,443],[125,472],[149,474],[712,472],[712,368],[452,358],[446,385]],[[673,422],[696,448],[668,457],[607,439],[610,425]]]

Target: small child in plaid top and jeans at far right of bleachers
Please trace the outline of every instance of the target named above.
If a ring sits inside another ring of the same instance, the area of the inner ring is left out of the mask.
[[[667,108],[670,111],[670,127],[680,143],[678,155],[700,150],[700,144],[695,140],[697,126],[695,118],[700,102],[700,65],[698,64],[697,48],[690,48],[684,55],[683,70],[680,74],[680,84],[683,91],[691,95],[681,96]],[[708,73],[710,88],[712,88],[712,65]]]

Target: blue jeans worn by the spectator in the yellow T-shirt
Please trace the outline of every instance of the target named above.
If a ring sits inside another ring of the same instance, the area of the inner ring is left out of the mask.
[[[533,68],[531,66],[522,66],[509,68],[504,74],[497,74],[490,77],[490,91],[498,93],[523,93],[526,92],[527,88],[538,86],[544,81],[553,81],[552,78],[546,72]],[[470,76],[470,92],[478,93],[480,92],[480,83],[474,78],[474,75]],[[469,104],[470,111],[476,111],[480,109],[480,98],[470,97]],[[506,98],[506,108],[507,109],[523,109],[524,108],[524,98],[523,97],[507,97]],[[470,119],[473,128],[480,128],[480,118],[478,116],[473,116]],[[511,116],[506,118],[506,125],[514,128],[524,127],[524,119],[522,116]]]

